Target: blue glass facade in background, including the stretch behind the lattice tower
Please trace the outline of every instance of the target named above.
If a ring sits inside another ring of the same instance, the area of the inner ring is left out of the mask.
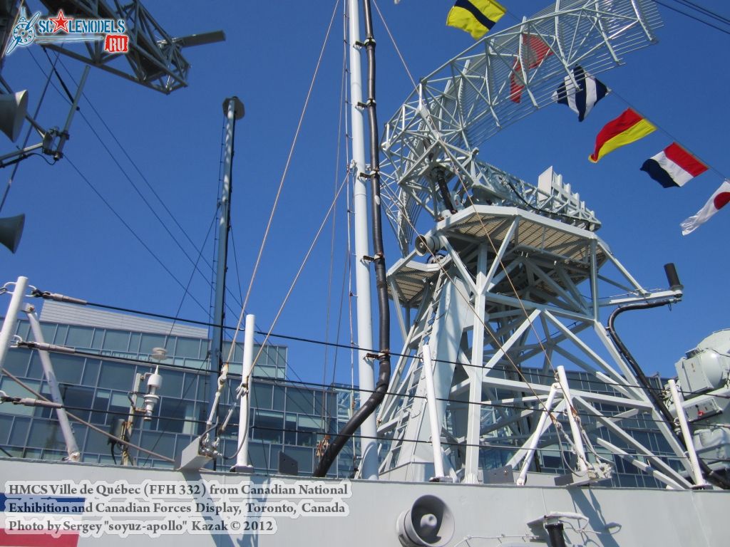
[[[135,422],[133,443],[143,448],[174,458],[175,454],[188,446],[193,438],[204,431],[208,415],[211,376],[208,372],[207,354],[209,341],[204,337],[180,334],[161,334],[136,330],[122,330],[110,327],[70,325],[63,322],[43,322],[45,341],[61,346],[70,346],[77,354],[53,353],[53,367],[61,387],[61,395],[70,412],[82,419],[110,430],[115,420],[126,419],[130,407],[129,394],[137,374],[153,372],[151,360],[153,348],[164,347],[167,358],[160,365],[163,384],[158,392],[160,400],[155,406],[152,419]],[[17,335],[31,340],[28,322],[20,322]],[[230,346],[224,355],[228,355]],[[258,353],[259,347],[255,349]],[[251,391],[252,411],[250,414],[250,463],[260,473],[274,473],[279,467],[279,454],[283,452],[296,460],[301,475],[312,473],[317,457],[316,446],[325,432],[339,431],[348,417],[353,400],[347,387],[312,389],[296,382],[287,381],[287,347],[265,346],[256,363],[255,379]],[[240,382],[242,368],[242,347],[237,345],[231,362],[230,385],[232,389],[223,392],[219,415],[225,416],[234,403],[235,387]],[[27,384],[28,387],[49,394],[47,383],[37,352],[28,349],[11,349],[4,367]],[[507,371],[495,370],[509,377]],[[551,375],[533,369],[524,369],[523,374],[540,384],[550,384]],[[596,382],[588,373],[568,371],[569,384],[573,389],[586,392],[606,392],[616,395],[606,384]],[[661,388],[663,381],[653,379]],[[143,386],[144,388],[144,386]],[[31,396],[26,389],[9,376],[0,376],[0,390],[16,397]],[[144,389],[142,389],[144,390]],[[507,393],[496,397],[507,397]],[[356,397],[356,395],[355,395]],[[137,403],[139,406],[139,402]],[[604,414],[610,416],[625,411],[625,408],[599,405]],[[458,403],[452,401],[450,408],[458,410]],[[499,409],[483,407],[483,424],[496,422]],[[447,419],[449,415],[447,414]],[[612,484],[617,486],[658,486],[653,478],[640,473],[621,457],[602,449],[597,438],[628,449],[618,435],[606,427],[599,427],[588,416],[582,416],[583,426],[593,439],[593,454],[598,454],[613,465],[615,470]],[[223,435],[219,449],[227,459],[219,465],[228,468],[233,465],[237,449],[237,408],[231,417],[226,435]],[[637,416],[621,422],[639,442],[677,470],[682,469],[680,461],[673,456],[664,437],[658,432],[656,423],[648,416]],[[111,446],[107,437],[99,432],[76,423],[74,434],[82,452],[82,461],[113,463]],[[568,424],[564,424],[567,430]],[[515,447],[502,432],[495,431],[493,441],[480,449],[481,468],[499,468],[510,459]],[[356,466],[356,447],[347,443],[331,470],[332,476],[350,477]],[[386,443],[387,445],[387,443]],[[54,411],[50,408],[0,405],[0,447],[14,457],[39,459],[61,459],[66,456]],[[629,449],[629,452],[631,450]],[[164,459],[147,456],[132,450],[137,465],[169,467]],[[568,465],[559,443],[543,448],[536,457],[537,470],[547,473],[567,473]]]

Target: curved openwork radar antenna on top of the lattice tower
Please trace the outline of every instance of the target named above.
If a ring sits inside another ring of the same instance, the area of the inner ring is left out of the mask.
[[[455,177],[453,187],[469,192],[488,182],[488,191],[476,195],[475,203],[518,206],[598,228],[581,203],[554,199],[538,206],[534,187],[477,162],[477,147],[553,104],[553,92],[566,77],[577,85],[573,67],[593,75],[612,69],[625,53],[655,43],[653,31],[661,24],[649,0],[558,0],[481,39],[421,79],[385,124],[381,142],[383,203],[401,253],[410,252],[422,209],[434,220],[459,209],[458,196],[448,186]]]

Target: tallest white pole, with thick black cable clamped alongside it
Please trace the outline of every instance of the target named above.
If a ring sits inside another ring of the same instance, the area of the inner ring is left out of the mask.
[[[350,117],[353,136],[353,163],[355,182],[353,209],[355,214],[355,282],[358,317],[358,372],[360,404],[375,389],[375,371],[372,359],[366,357],[372,351],[372,300],[370,298],[370,267],[365,258],[369,255],[367,222],[367,185],[365,171],[365,133],[363,128],[362,69],[360,63],[360,17],[358,1],[347,1],[350,34]],[[360,426],[360,453],[362,478],[377,479],[377,428],[375,414],[371,414]]]

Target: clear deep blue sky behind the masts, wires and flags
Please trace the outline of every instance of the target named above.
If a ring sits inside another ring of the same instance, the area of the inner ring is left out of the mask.
[[[503,4],[510,12],[495,31],[545,7],[542,1]],[[664,4],[675,6],[676,2],[666,0]],[[725,2],[699,0],[699,4],[730,16]],[[246,115],[236,135],[231,246],[235,255],[231,255],[228,284],[234,292],[239,292],[239,283],[246,291],[335,1],[228,1],[206,11],[199,11],[200,6],[200,2],[185,0],[161,0],[149,6],[155,19],[173,36],[218,28],[226,32],[225,43],[184,51],[192,65],[188,88],[164,96],[92,69],[80,104],[80,113],[91,127],[81,115],[74,119],[65,149],[68,159],[48,166],[36,156],[20,164],[1,216],[25,213],[26,229],[15,255],[0,249],[1,282],[25,275],[42,290],[161,314],[175,315],[180,308],[180,317],[207,320],[210,275],[196,274],[190,287],[190,294],[203,309],[190,296],[183,300],[183,288],[169,272],[186,285],[191,262],[129,179],[188,256],[195,260],[199,247],[205,244],[203,256],[210,262],[212,240],[206,236],[218,194],[221,104],[227,96],[237,95],[245,103]],[[396,5],[380,0],[377,6],[416,78],[429,74],[473,43],[468,34],[445,26],[449,1],[402,0]],[[31,7],[37,6],[31,2]],[[730,211],[720,212],[690,236],[682,236],[679,228],[679,223],[700,209],[730,174],[726,137],[730,77],[724,63],[730,36],[666,7],[659,6],[659,10],[664,27],[657,31],[658,44],[629,53],[623,66],[601,75],[614,93],[596,106],[584,123],[577,123],[564,106],[550,106],[487,141],[480,147],[480,155],[533,183],[545,168],[554,166],[596,211],[603,222],[599,236],[645,287],[665,287],[662,266],[677,264],[685,285],[682,303],[671,311],[634,312],[618,319],[619,332],[645,371],[672,374],[674,362],[686,350],[712,331],[730,326],[726,314],[729,297],[723,283],[730,271],[726,244]],[[328,209],[334,187],[345,175],[344,152],[340,152],[339,161],[336,156],[342,90],[341,12],[340,4],[253,284],[248,308],[257,315],[262,330],[274,319]],[[375,16],[377,104],[383,123],[407,98],[412,85],[377,12]],[[19,48],[5,61],[4,78],[16,90],[29,90],[31,110],[36,108],[48,66],[36,45]],[[74,88],[72,80],[80,77],[82,66],[61,57],[58,71],[69,88]],[[54,84],[58,88],[57,80]],[[596,133],[627,104],[661,131],[613,152],[597,165],[589,163],[587,156],[593,150]],[[40,123],[63,125],[67,112],[64,98],[50,88],[39,113]],[[665,190],[639,171],[639,166],[672,139],[699,156],[710,171],[686,187]],[[7,139],[2,150],[10,150]],[[159,262],[93,193],[71,163],[104,195]],[[0,170],[3,187],[9,173],[10,168]],[[170,220],[147,183],[164,199],[195,247]],[[317,340],[328,336],[334,341],[343,291],[344,217],[341,202],[335,244],[331,243],[333,230],[328,225],[275,332]],[[398,255],[391,234],[386,236],[392,263]],[[333,283],[328,291],[330,276]],[[6,299],[1,306],[7,306]],[[235,303],[231,307],[229,324],[239,313]],[[342,309],[339,341],[347,344],[346,300]],[[393,322],[394,336],[395,325]],[[325,357],[320,346],[287,344],[291,367],[299,376],[312,381],[331,379],[334,354]],[[328,371],[323,376],[325,360]],[[339,354],[334,376],[348,381],[347,352]]]

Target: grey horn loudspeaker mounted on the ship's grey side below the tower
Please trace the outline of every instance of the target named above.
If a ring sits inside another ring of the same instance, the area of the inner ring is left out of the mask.
[[[398,539],[405,547],[443,547],[454,535],[454,516],[436,496],[421,496],[396,523]]]

